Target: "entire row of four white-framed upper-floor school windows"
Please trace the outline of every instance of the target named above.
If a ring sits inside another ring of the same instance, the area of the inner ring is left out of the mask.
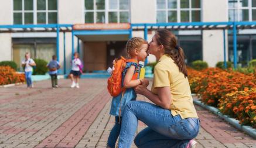
[[[129,0],[84,0],[85,23],[130,22]],[[200,22],[201,0],[156,0],[156,22]],[[228,20],[256,20],[256,0],[228,0]],[[57,0],[13,0],[13,24],[57,23]]]

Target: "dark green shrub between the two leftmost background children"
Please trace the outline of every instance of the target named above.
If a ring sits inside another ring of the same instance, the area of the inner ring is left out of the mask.
[[[46,67],[47,61],[40,58],[37,58],[34,61],[36,63],[36,66],[33,67],[33,75],[46,74],[48,71],[48,68]]]

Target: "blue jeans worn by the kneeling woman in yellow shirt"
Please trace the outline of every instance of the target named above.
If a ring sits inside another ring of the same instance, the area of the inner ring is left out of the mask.
[[[197,136],[200,122],[197,118],[182,119],[172,116],[168,109],[144,102],[131,101],[125,106],[122,116],[119,148],[131,147],[138,120],[149,127],[135,137],[137,147],[186,147],[189,140]]]

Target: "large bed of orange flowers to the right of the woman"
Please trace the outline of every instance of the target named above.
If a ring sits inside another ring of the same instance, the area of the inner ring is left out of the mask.
[[[199,94],[204,104],[219,107],[222,113],[237,118],[243,125],[255,128],[255,110],[252,110],[256,108],[255,74],[245,75],[220,68],[202,71],[189,68],[188,73],[192,92]],[[240,98],[239,101],[237,98]],[[251,103],[244,102],[249,100]]]

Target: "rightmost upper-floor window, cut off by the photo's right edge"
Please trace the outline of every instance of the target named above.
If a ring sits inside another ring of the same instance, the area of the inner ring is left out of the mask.
[[[256,0],[228,0],[228,20],[255,21]]]

